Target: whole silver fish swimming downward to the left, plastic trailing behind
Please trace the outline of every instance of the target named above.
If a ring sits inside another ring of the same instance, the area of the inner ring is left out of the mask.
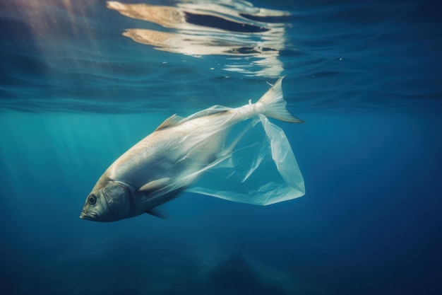
[[[80,219],[109,222],[145,213],[167,219],[161,209],[163,204],[177,198],[201,175],[232,155],[243,136],[233,134],[237,138],[226,145],[226,137],[234,125],[257,117],[303,122],[287,110],[282,95],[283,78],[280,77],[256,103],[249,100],[239,108],[215,105],[186,118],[176,114],[167,118],[104,171],[86,197]],[[281,132],[273,137],[280,137]],[[287,149],[292,153],[290,147]],[[273,158],[275,160],[275,156]],[[287,166],[297,166],[296,161]],[[290,177],[285,175],[285,178]],[[304,195],[303,190],[304,180],[301,179],[301,192],[289,199]]]

